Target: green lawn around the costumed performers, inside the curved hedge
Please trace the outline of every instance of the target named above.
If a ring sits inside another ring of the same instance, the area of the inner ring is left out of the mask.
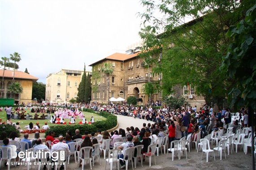
[[[30,115],[32,115],[32,118],[34,118],[35,113],[31,113],[30,109],[25,109],[25,110],[26,110],[26,113],[29,113]],[[14,109],[13,109],[13,111],[14,111]],[[85,118],[88,122],[91,121],[91,116],[94,117],[94,121],[106,120],[105,117],[99,116],[99,115],[91,113],[91,112],[82,112],[82,113],[83,113],[83,115],[85,116]],[[37,114],[38,114],[38,117],[40,117],[43,113],[37,113]],[[47,113],[44,113],[44,115],[47,115]],[[51,116],[52,115],[54,115],[54,113],[51,113]],[[5,111],[0,112],[0,118],[2,119],[2,122],[5,121],[5,123],[6,123],[6,112]],[[27,124],[29,124],[30,122],[32,122],[33,125],[35,125],[36,122],[39,122],[40,129],[42,129],[42,126],[44,125],[44,122],[48,122],[49,126],[56,126],[56,125],[65,126],[65,124],[51,124],[50,120],[47,120],[47,119],[45,119],[45,120],[14,120],[14,119],[11,119],[11,120],[12,120],[12,122],[15,122],[15,123],[19,121],[20,126],[23,130],[24,130],[24,127]],[[82,119],[79,119],[79,116],[77,116],[77,118],[75,120],[76,120],[76,124],[78,124],[79,121],[82,121]],[[69,124],[70,119],[64,119],[64,121],[67,124]],[[26,130],[26,128],[25,128],[25,130]]]

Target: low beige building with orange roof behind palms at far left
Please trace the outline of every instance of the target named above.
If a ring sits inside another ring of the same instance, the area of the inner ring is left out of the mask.
[[[14,98],[17,102],[24,102],[25,104],[32,101],[32,86],[33,83],[38,80],[37,77],[33,75],[29,75],[25,72],[15,70],[0,70],[0,86],[2,86],[2,79],[4,73],[4,86],[1,87],[0,97],[2,98]],[[8,85],[13,82],[13,74],[14,74],[14,81],[19,82],[23,91],[21,94],[11,94],[8,91]]]

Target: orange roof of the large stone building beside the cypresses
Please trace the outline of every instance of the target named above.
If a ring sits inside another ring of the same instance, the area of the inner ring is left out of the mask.
[[[105,60],[117,60],[117,61],[126,61],[130,58],[134,58],[138,55],[139,53],[135,53],[135,54],[122,54],[122,53],[114,53],[111,54],[110,56],[103,58],[97,62],[94,62],[92,64],[90,64],[89,66],[93,66],[95,64],[98,64],[100,62],[104,62]]]

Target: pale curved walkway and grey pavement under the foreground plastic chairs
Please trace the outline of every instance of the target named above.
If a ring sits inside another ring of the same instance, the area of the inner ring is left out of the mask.
[[[149,121],[134,119],[133,117],[128,116],[120,116],[117,115],[117,120],[119,126],[117,129],[122,128],[126,129],[126,127],[134,126],[139,129],[142,128],[143,123],[148,124]],[[216,147],[216,145],[212,145],[211,148]],[[251,149],[249,149],[249,153],[245,155],[243,151],[238,149],[238,153],[233,153],[230,155],[226,155],[226,159],[224,153],[222,153],[222,160],[218,157],[218,153],[215,152],[216,161],[212,158],[212,154],[209,155],[208,162],[206,162],[205,153],[203,154],[203,159],[201,160],[201,151],[198,153],[195,150],[195,146],[191,149],[190,153],[187,153],[187,159],[185,154],[183,153],[180,160],[178,157],[174,158],[172,161],[172,155],[169,153],[168,158],[166,154],[156,156],[156,165],[154,159],[152,158],[152,166],[149,167],[148,158],[145,162],[143,162],[143,167],[140,166],[140,163],[137,163],[136,170],[251,170],[252,169],[252,154],[250,153]],[[227,153],[226,153],[227,154]],[[104,170],[105,169],[105,160],[103,155],[100,158],[101,165],[97,161],[95,166],[92,167],[92,170]],[[70,159],[70,164],[68,165],[67,170],[82,170],[81,167],[77,167],[78,164],[74,162],[74,158]],[[114,168],[114,167],[113,167]],[[11,170],[27,170],[27,166],[11,166]],[[33,166],[35,169],[35,166]],[[89,170],[90,165],[86,164],[84,166],[84,170]],[[0,170],[7,170],[7,167],[2,166]],[[43,168],[41,168],[43,170]],[[58,169],[59,170],[59,169]],[[107,170],[109,170],[109,165],[107,165]],[[120,169],[121,170],[121,169]],[[132,170],[131,163],[128,164],[128,170]]]

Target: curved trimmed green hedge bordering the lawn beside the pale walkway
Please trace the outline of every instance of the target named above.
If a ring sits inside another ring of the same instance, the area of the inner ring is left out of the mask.
[[[51,126],[50,129],[45,132],[45,137],[49,135],[50,130],[53,130],[55,132],[54,137],[58,137],[59,134],[62,134],[65,136],[68,130],[71,131],[72,135],[75,135],[75,130],[79,129],[80,134],[83,135],[85,131],[88,131],[89,134],[91,132],[96,133],[98,130],[103,132],[105,130],[112,129],[117,125],[117,116],[114,116],[108,112],[94,112],[92,109],[83,109],[83,111],[98,114],[100,116],[105,117],[107,120],[97,121],[94,124],[74,124],[74,125],[65,124],[65,125]]]

